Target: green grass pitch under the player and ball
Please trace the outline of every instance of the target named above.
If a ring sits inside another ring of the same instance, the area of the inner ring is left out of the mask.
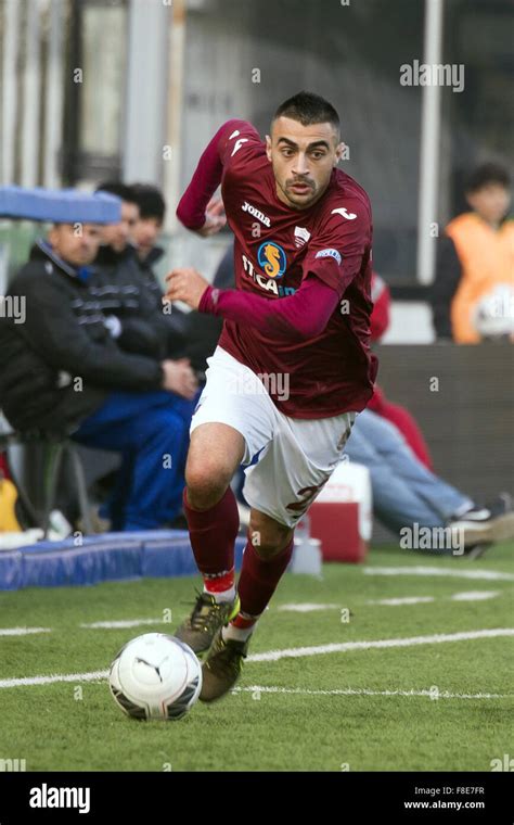
[[[412,571],[365,572],[384,567]],[[445,574],[419,575],[419,567]],[[464,578],[470,572],[477,578]],[[24,759],[27,771],[490,771],[491,760],[512,753],[509,635],[249,659],[239,689],[221,701],[198,702],[178,722],[129,720],[105,678],[80,674],[105,671],[141,633],[172,632],[194,586],[200,579],[1,593],[0,760]],[[477,561],[374,549],[364,564],[325,564],[321,580],[287,573],[250,652],[512,629],[513,593],[511,544]],[[370,604],[407,597],[433,600]],[[324,607],[281,609],[306,604]],[[81,626],[119,620],[154,623]],[[1,635],[22,626],[51,632]],[[63,674],[77,675],[9,682]]]

